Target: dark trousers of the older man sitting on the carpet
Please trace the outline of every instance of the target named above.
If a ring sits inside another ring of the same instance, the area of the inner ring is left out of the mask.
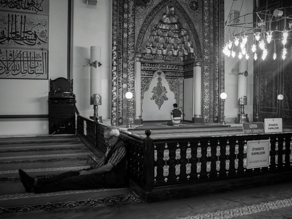
[[[102,174],[79,175],[79,171],[69,171],[56,176],[38,179],[34,193],[65,190],[99,189],[104,187]]]

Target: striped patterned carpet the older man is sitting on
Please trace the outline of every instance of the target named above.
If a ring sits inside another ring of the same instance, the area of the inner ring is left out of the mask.
[[[0,138],[0,217],[46,218],[65,211],[66,218],[73,218],[75,211],[142,202],[129,188],[34,194],[26,193],[20,182],[20,168],[38,178],[49,177],[87,168],[87,155],[93,153],[76,136]]]

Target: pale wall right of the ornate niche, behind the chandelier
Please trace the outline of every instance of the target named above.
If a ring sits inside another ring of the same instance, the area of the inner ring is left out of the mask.
[[[233,0],[225,0],[224,1],[224,14],[225,14],[225,22],[229,22],[229,12],[230,8],[231,11],[240,11],[240,15],[242,16],[247,13],[252,13],[253,11],[253,1],[252,0],[245,0],[241,7],[243,1],[233,1]],[[231,7],[232,6],[232,7]],[[252,22],[252,15],[246,16],[246,22]],[[240,18],[239,23],[244,23],[244,18]],[[227,28],[228,30],[228,28]],[[241,28],[235,28],[235,34],[239,33]],[[230,36],[232,40],[232,32],[233,27],[230,29]],[[253,44],[253,35],[249,34],[248,36],[248,50],[247,53],[249,54],[248,59],[248,85],[247,85],[247,105],[245,108],[245,113],[248,114],[250,118],[250,122],[252,120],[252,113],[253,113],[253,52],[251,51],[251,45]],[[239,46],[234,47],[234,51],[237,55],[232,58],[225,56],[225,93],[227,94],[226,102],[225,102],[225,117],[228,118],[237,118],[238,109],[240,108],[237,105],[237,93],[238,93],[238,75],[231,74],[232,69],[239,68]],[[221,49],[222,52],[222,49]],[[243,57],[244,58],[244,57]]]

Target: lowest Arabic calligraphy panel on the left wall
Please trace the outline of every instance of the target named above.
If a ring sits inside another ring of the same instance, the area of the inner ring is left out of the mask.
[[[48,79],[48,51],[0,48],[0,78]]]

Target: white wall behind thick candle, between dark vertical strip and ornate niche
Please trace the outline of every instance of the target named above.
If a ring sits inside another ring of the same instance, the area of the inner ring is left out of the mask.
[[[74,1],[74,39],[73,39],[73,91],[76,106],[81,115],[93,115],[90,100],[90,47],[101,47],[102,105],[98,115],[102,119],[111,117],[111,1],[99,0],[97,6],[87,5],[86,1]]]

